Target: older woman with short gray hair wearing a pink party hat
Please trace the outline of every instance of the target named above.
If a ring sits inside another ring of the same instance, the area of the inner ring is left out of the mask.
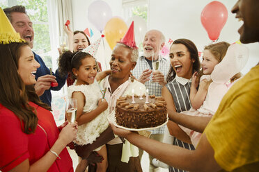
[[[105,99],[109,105],[109,112],[113,112],[116,101],[127,94],[144,94],[145,85],[134,80],[131,71],[136,66],[139,51],[134,40],[133,24],[126,35],[114,47],[111,60],[111,74],[104,78],[100,85],[107,89]],[[133,35],[133,36],[132,36]],[[140,89],[141,88],[141,89]],[[116,137],[107,143],[108,171],[142,171],[139,160],[139,148]]]

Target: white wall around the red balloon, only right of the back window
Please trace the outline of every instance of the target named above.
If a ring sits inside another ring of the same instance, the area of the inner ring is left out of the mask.
[[[178,38],[187,38],[192,40],[199,51],[211,43],[207,36],[205,28],[201,24],[201,12],[203,8],[212,0],[150,0],[149,1],[149,23],[148,28],[157,28],[162,31],[166,38],[176,40]],[[231,13],[231,8],[237,0],[226,1],[218,0],[228,9],[228,20],[219,35],[218,42],[226,41],[230,44],[240,39],[237,29],[242,22],[237,22],[235,15]],[[259,44],[246,44],[249,47],[249,62],[243,69],[246,73],[259,61]]]

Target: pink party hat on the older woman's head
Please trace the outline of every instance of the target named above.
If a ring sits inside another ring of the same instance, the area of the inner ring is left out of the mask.
[[[132,49],[138,49],[134,36],[134,21],[132,22],[130,28],[127,30],[127,33],[124,35],[123,39],[120,40],[119,43],[130,46]]]

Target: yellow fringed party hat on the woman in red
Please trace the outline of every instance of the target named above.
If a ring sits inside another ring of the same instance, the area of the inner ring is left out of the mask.
[[[22,40],[0,8],[0,44],[10,44],[11,42],[25,42],[25,40]]]

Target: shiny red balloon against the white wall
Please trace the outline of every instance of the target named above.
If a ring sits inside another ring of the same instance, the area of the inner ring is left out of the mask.
[[[210,40],[219,38],[219,34],[228,19],[228,10],[223,3],[212,1],[203,8],[201,12],[201,24],[207,31]]]

